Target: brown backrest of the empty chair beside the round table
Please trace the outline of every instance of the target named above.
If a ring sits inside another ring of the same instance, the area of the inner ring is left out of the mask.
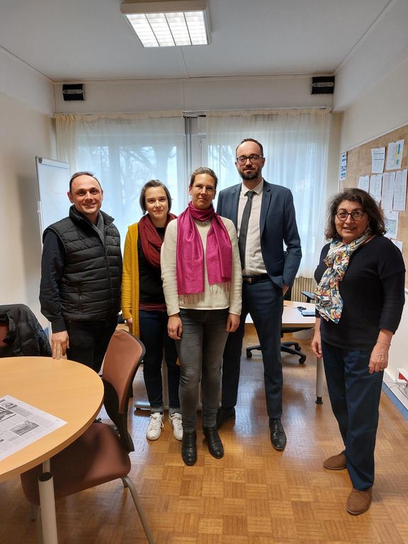
[[[123,448],[135,448],[128,433],[128,402],[130,384],[145,356],[142,342],[123,329],[113,333],[103,361],[102,380],[105,387],[105,405],[108,416],[118,428]]]

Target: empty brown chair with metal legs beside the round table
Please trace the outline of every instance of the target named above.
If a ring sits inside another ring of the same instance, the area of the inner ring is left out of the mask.
[[[104,405],[113,426],[94,422],[76,441],[51,458],[55,499],[66,497],[111,480],[121,478],[130,489],[149,544],[154,544],[135,485],[128,476],[131,468],[129,453],[134,451],[128,432],[129,388],[145,355],[145,347],[128,331],[113,334],[103,362],[102,380]],[[40,505],[38,476],[42,465],[21,475],[21,484],[28,501]]]

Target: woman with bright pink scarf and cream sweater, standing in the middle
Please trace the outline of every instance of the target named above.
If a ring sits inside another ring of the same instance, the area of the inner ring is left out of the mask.
[[[215,428],[222,353],[239,325],[242,274],[232,221],[215,213],[217,176],[201,166],[191,174],[191,202],[169,223],[162,245],[162,280],[170,338],[181,365],[181,457],[197,460],[196,414],[201,382],[203,433],[212,457],[224,448]]]

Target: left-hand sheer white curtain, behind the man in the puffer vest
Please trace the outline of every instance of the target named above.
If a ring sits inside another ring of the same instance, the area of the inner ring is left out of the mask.
[[[146,181],[162,181],[171,193],[172,210],[183,210],[186,153],[181,111],[57,114],[56,130],[58,158],[69,162],[72,174],[85,170],[98,178],[102,209],[115,217],[122,242],[128,225],[142,216],[139,196]]]

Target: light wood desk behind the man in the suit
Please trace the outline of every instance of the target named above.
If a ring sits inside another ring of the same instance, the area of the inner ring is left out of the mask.
[[[283,301],[283,314],[282,314],[282,328],[288,327],[293,329],[295,327],[312,329],[316,318],[303,317],[300,310],[297,310],[298,306],[306,308],[306,310],[314,310],[314,304],[312,302],[297,302],[296,300],[284,300]],[[245,328],[252,331],[254,324],[251,316],[246,316]],[[323,361],[316,358],[316,403],[322,404],[323,396]]]

